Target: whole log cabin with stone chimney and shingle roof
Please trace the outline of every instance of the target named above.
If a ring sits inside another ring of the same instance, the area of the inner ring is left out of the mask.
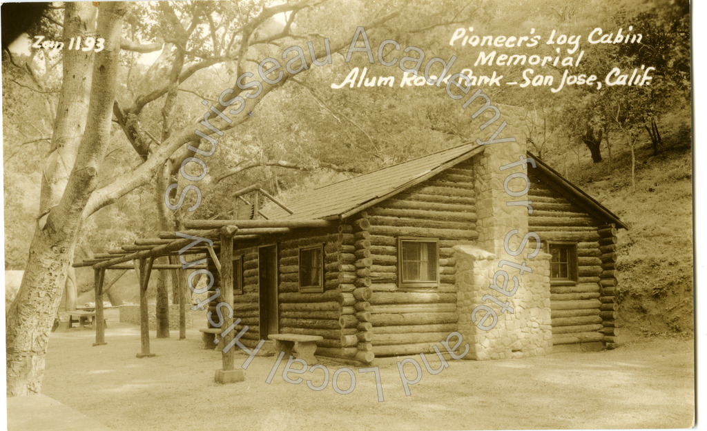
[[[233,304],[224,325],[245,330],[249,348],[272,334],[318,336],[317,356],[362,364],[434,353],[452,332],[474,360],[614,347],[626,225],[529,153],[522,129],[504,133],[515,142],[464,143],[286,205],[266,193],[279,204],[266,220],[188,220],[192,235],[215,238],[208,252],[191,250],[214,275],[209,309]],[[75,266],[118,268],[189,241],[162,232]],[[148,343],[144,331],[139,355]]]

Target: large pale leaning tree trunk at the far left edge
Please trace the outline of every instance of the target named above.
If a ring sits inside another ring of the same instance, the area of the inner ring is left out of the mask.
[[[105,49],[95,53],[91,78],[90,103],[86,107],[86,69],[90,58],[64,53],[64,85],[57,107],[57,126],[53,142],[62,144],[81,134],[81,117],[86,129],[78,144],[74,166],[61,199],[42,211],[30,244],[25,275],[6,321],[7,395],[21,396],[40,392],[45,369],[49,333],[54,324],[66,274],[71,267],[83,211],[98,185],[98,168],[110,140],[112,105],[117,85],[120,32],[125,4],[101,2],[98,6],[96,32],[105,39]],[[68,40],[92,32],[90,3],[67,3],[64,10],[64,37]],[[72,93],[78,85],[78,93]],[[74,103],[84,100],[83,103]],[[64,120],[59,114],[65,113]],[[87,115],[88,113],[88,115]],[[59,122],[68,122],[66,129]],[[64,130],[64,131],[62,131]],[[67,159],[67,163],[71,160]],[[67,160],[64,160],[65,162]],[[49,184],[42,183],[42,196],[49,194]],[[59,194],[57,191],[56,194]],[[49,199],[45,199],[45,202]]]

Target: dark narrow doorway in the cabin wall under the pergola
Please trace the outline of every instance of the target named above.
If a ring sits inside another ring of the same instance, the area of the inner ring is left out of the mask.
[[[258,249],[258,300],[260,338],[267,340],[278,333],[277,307],[277,247],[268,245]]]

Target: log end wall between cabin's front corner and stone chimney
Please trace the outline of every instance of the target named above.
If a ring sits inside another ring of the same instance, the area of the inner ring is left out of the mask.
[[[436,343],[457,330],[452,247],[478,237],[472,163],[445,170],[368,208],[366,215],[373,292],[367,327],[373,331],[369,343],[373,353],[376,357],[431,353]],[[398,237],[438,238],[438,287],[399,288]]]

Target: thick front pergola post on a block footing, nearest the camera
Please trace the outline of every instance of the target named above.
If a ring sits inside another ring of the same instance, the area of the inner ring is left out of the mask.
[[[221,301],[230,304],[233,307],[233,234],[236,228],[233,226],[226,226],[221,228],[221,254],[219,260],[221,261],[221,270],[219,271],[221,276]],[[230,328],[233,324],[233,317],[228,317],[228,314],[223,315],[223,324],[221,329]],[[216,375],[214,376],[214,381],[217,383],[235,383],[243,382],[245,380],[245,374],[243,370],[236,370],[233,366],[233,348],[223,352],[223,348],[228,346],[228,343],[233,340],[234,331],[228,331],[226,336],[221,337],[221,341],[218,343],[218,348],[221,349],[222,355],[222,368],[221,370],[216,370]]]

